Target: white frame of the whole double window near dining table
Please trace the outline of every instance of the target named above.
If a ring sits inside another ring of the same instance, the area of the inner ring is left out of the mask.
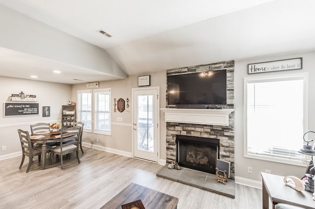
[[[110,92],[110,99],[109,99],[109,118],[110,118],[110,131],[101,131],[101,130],[97,130],[95,129],[96,127],[96,119],[95,119],[95,93],[97,92]],[[79,94],[82,93],[91,93],[91,129],[86,129],[86,126],[84,126],[84,130],[85,132],[91,132],[91,133],[96,133],[96,134],[103,134],[103,135],[111,135],[112,132],[112,113],[111,113],[111,88],[106,88],[106,89],[93,89],[93,90],[78,90],[77,91],[77,103],[78,106],[80,105],[79,103],[81,101],[79,101]],[[80,111],[79,109],[77,109],[77,115],[78,115],[78,121],[80,121]]]

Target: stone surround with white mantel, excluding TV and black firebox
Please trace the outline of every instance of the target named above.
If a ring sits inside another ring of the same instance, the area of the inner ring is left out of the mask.
[[[234,61],[170,69],[166,73],[172,75],[221,69],[227,70],[227,105],[223,109],[161,109],[165,112],[166,122],[166,162],[176,160],[176,135],[219,139],[220,159],[231,163],[230,179],[234,179]],[[224,117],[225,121],[221,123]],[[216,119],[220,119],[219,122]],[[212,120],[215,122],[212,123]]]

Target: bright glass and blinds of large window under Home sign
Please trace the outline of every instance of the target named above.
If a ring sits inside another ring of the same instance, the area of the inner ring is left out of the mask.
[[[244,78],[245,157],[301,164],[307,74]]]

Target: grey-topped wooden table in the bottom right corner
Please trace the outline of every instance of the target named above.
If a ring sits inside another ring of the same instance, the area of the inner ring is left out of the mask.
[[[308,191],[296,191],[284,184],[284,177],[261,173],[262,177],[262,208],[269,209],[269,198],[275,208],[277,203],[315,209],[313,194]]]

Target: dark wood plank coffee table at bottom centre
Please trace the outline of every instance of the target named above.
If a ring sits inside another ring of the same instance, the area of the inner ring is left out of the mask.
[[[101,209],[122,209],[122,205],[139,199],[146,209],[177,209],[178,198],[136,183],[130,183]]]

